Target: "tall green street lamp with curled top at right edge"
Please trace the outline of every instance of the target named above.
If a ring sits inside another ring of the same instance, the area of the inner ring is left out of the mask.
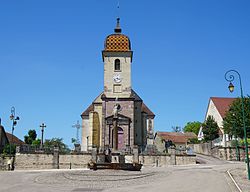
[[[242,120],[243,120],[243,129],[244,129],[244,140],[245,140],[245,153],[246,153],[246,163],[247,163],[247,173],[248,173],[248,180],[250,180],[250,168],[249,168],[249,157],[248,157],[248,143],[247,143],[247,130],[246,130],[246,120],[245,120],[245,110],[244,110],[244,96],[243,96],[243,89],[241,83],[241,76],[240,73],[236,70],[229,70],[225,73],[225,79],[230,82],[228,89],[230,92],[234,91],[234,85],[232,81],[234,81],[234,74],[238,75],[240,81],[240,95],[241,95],[241,110],[242,110]]]

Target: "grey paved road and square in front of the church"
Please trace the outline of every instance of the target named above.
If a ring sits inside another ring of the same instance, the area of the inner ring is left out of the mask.
[[[242,168],[198,156],[206,164],[143,168],[141,172],[114,170],[54,170],[0,172],[0,192],[236,192],[226,171]],[[250,190],[249,190],[250,191]]]

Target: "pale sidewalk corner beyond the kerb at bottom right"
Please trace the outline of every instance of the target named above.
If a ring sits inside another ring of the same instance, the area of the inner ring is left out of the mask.
[[[230,173],[242,192],[250,192],[250,180],[247,179],[246,169],[236,168],[230,170]]]

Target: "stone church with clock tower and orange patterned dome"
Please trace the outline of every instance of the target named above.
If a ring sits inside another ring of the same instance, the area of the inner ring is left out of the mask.
[[[143,152],[153,144],[155,115],[132,89],[132,59],[130,39],[122,34],[117,18],[114,33],[106,37],[102,51],[104,90],[81,114],[83,152],[112,150],[115,142],[118,152],[134,147]]]

